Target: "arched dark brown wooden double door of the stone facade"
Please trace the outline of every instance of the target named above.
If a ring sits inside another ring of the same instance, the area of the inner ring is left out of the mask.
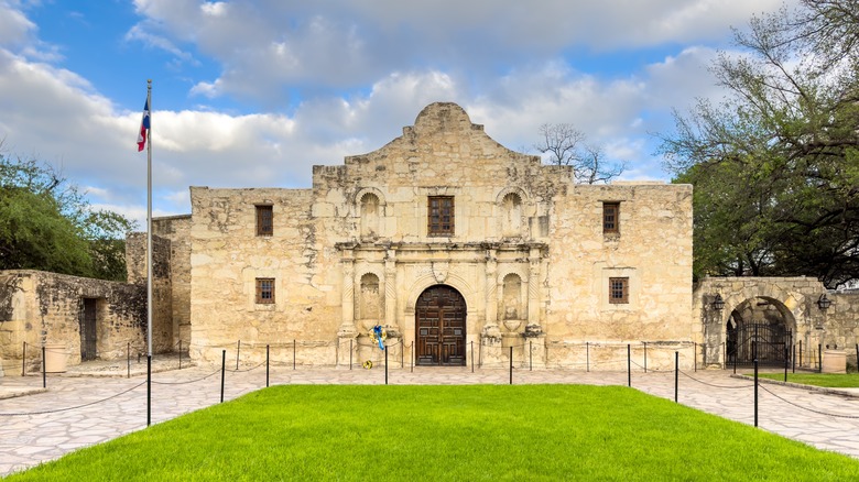
[[[415,304],[415,362],[418,365],[466,364],[466,304],[450,286],[426,288]]]

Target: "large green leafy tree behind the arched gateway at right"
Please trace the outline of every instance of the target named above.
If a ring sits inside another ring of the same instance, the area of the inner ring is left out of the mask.
[[[859,280],[859,0],[803,0],[735,32],[729,89],[662,135],[695,186],[695,275]]]

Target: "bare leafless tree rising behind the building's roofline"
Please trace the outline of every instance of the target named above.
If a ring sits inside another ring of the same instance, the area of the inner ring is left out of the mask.
[[[572,124],[543,124],[540,127],[543,140],[534,144],[541,154],[550,154],[550,163],[559,166],[573,166],[573,177],[577,183],[608,183],[620,176],[626,164],[606,162],[602,149],[586,144],[587,136]]]

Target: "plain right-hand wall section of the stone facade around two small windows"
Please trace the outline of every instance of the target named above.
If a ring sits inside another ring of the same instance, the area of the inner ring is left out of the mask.
[[[620,202],[620,232],[602,232],[602,202]],[[577,185],[556,198],[550,245],[550,340],[694,341],[692,186]],[[629,303],[608,302],[629,277]]]

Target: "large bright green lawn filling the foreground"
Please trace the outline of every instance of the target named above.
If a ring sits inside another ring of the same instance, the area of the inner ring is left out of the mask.
[[[857,479],[858,460],[622,386],[284,385],[8,480]]]

